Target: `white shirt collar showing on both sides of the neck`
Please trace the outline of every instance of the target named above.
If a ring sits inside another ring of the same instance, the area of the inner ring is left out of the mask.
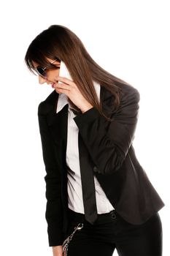
[[[101,86],[100,86],[99,83],[97,83],[95,81],[93,81],[93,86],[94,86],[94,88],[96,90],[96,94],[97,94],[98,100],[100,101],[100,89],[101,89]],[[68,97],[66,96],[66,94],[59,94],[58,95],[58,104],[57,104],[56,113],[61,111],[66,104],[69,104]],[[70,104],[69,104],[69,108],[71,108]]]

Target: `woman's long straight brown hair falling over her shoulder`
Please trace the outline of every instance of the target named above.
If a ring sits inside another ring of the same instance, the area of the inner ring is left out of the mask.
[[[113,94],[113,104],[116,109],[120,105],[121,86],[128,85],[128,83],[100,67],[91,58],[77,35],[65,26],[53,25],[42,31],[29,45],[25,61],[28,69],[33,71],[33,61],[39,64],[40,67],[46,67],[49,65],[47,58],[62,60],[85,99],[102,116],[109,121],[111,120],[105,116],[102,110],[101,102],[98,101],[93,86],[93,80]],[[50,68],[55,69],[56,67],[51,64]],[[79,110],[75,105],[74,108]]]

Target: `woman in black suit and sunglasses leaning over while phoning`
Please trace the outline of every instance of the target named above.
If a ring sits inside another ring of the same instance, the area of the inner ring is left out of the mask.
[[[42,31],[25,60],[55,89],[38,109],[53,255],[161,256],[164,203],[132,146],[139,92],[64,26]],[[72,80],[59,76],[62,62]]]

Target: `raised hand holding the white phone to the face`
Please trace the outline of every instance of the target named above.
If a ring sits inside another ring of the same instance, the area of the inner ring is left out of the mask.
[[[74,105],[76,105],[77,108],[80,108],[82,113],[89,110],[90,108],[93,108],[93,105],[91,105],[87,101],[87,99],[85,99],[85,97],[82,96],[77,85],[72,80],[61,77],[56,78],[56,80],[59,80],[62,83],[55,83],[55,91],[57,91],[58,93],[66,94],[66,96],[72,100]]]

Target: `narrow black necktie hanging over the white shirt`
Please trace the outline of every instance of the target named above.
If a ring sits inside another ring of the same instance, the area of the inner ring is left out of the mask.
[[[85,219],[93,224],[97,219],[96,192],[93,177],[93,163],[85,147],[80,132],[78,134],[80,173],[82,180],[82,198],[85,208]],[[91,163],[91,164],[90,164]]]

